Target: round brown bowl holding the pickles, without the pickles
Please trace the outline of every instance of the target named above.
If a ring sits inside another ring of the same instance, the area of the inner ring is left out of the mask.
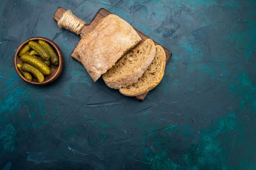
[[[49,67],[51,69],[51,73],[49,75],[45,75],[44,82],[38,82],[37,78],[34,77],[34,75],[32,75],[32,81],[25,79],[24,75],[21,73],[21,71],[17,67],[17,64],[23,63],[20,60],[20,56],[18,56],[18,53],[22,49],[22,47],[25,46],[29,41],[38,42],[38,40],[44,40],[44,41],[48,42],[48,44],[50,44],[52,49],[54,49],[55,53],[59,57],[58,66],[54,66],[53,64],[51,64],[51,66]],[[14,55],[14,65],[15,65],[16,72],[18,73],[20,78],[23,79],[25,82],[34,84],[34,85],[46,85],[46,84],[50,84],[50,83],[54,82],[54,80],[56,80],[58,78],[58,76],[61,74],[61,71],[63,69],[63,56],[62,56],[61,50],[58,48],[58,46],[52,40],[49,40],[48,38],[43,38],[43,37],[33,37],[33,38],[29,38],[28,40],[26,40],[20,44],[20,46],[18,47],[18,49],[16,50],[16,53]]]

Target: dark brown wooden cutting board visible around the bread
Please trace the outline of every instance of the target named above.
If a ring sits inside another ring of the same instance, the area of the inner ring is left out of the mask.
[[[65,9],[63,9],[62,7],[59,7],[59,8],[56,10],[56,12],[54,13],[53,19],[54,19],[56,22],[58,22],[58,21],[61,19],[61,17],[63,16],[63,13],[65,13],[65,11],[66,11]],[[82,38],[84,35],[86,35],[86,34],[92,32],[92,31],[94,30],[94,28],[97,26],[97,24],[99,23],[99,21],[100,21],[102,18],[108,16],[109,14],[111,14],[111,13],[110,13],[108,10],[106,10],[106,9],[104,9],[104,8],[99,9],[99,11],[96,13],[96,15],[94,16],[94,18],[92,19],[91,23],[90,23],[90,24],[85,24],[85,25],[83,26],[83,28],[81,29],[81,31],[80,31],[80,36],[81,36],[81,38]],[[134,28],[134,29],[135,29],[135,28]],[[149,37],[146,36],[145,34],[143,34],[143,33],[141,33],[140,31],[138,31],[137,29],[135,29],[135,31],[137,31],[137,33],[138,33],[139,36],[141,37],[142,42],[143,42],[144,40],[146,40],[146,39],[149,38]],[[153,40],[153,41],[154,41],[154,40]],[[154,43],[155,43],[155,45],[160,45],[160,44],[158,44],[158,43],[155,42],[155,41],[154,41]],[[164,48],[164,51],[165,51],[165,53],[166,53],[166,64],[167,64],[167,63],[169,62],[170,58],[171,58],[172,53],[171,53],[168,49],[166,49],[164,46],[162,46],[162,47]],[[74,52],[74,50],[72,51],[71,56],[72,56],[75,60],[77,60],[78,62],[81,63],[80,58],[79,58],[78,56],[76,56],[73,52]],[[139,100],[139,101],[142,101],[142,100],[146,97],[147,94],[148,94],[148,92],[147,92],[147,93],[144,93],[144,94],[142,94],[142,95],[135,96],[135,97],[133,97],[133,98],[135,98],[135,99],[137,99],[137,100]]]

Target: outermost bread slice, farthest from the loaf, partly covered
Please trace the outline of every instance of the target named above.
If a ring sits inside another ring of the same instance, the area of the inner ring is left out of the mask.
[[[126,96],[137,96],[150,91],[160,83],[164,76],[166,56],[162,46],[157,45],[155,47],[155,58],[148,66],[148,69],[136,83],[120,88],[120,93]]]

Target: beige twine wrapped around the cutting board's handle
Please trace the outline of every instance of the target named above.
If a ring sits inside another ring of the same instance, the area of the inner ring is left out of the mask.
[[[61,19],[58,21],[58,26],[60,28],[68,29],[77,35],[80,34],[84,24],[86,24],[86,22],[77,18],[70,10],[65,11]]]

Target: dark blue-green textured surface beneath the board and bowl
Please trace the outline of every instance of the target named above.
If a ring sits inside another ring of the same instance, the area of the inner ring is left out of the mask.
[[[1,0],[0,169],[256,170],[255,0]],[[70,57],[79,36],[52,15],[90,22],[100,8],[173,52],[138,102],[93,82]],[[33,86],[16,74],[24,40],[54,40],[61,76]]]

